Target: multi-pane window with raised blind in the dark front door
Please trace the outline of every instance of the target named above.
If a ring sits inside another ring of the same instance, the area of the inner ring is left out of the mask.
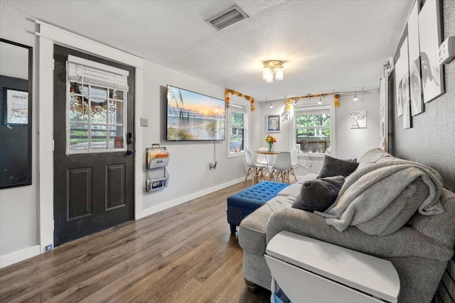
[[[124,151],[129,72],[69,55],[66,75],[67,154]]]

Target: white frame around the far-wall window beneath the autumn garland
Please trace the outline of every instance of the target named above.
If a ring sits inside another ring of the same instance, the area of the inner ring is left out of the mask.
[[[297,144],[297,119],[296,115],[298,110],[301,109],[314,109],[314,108],[330,108],[330,115],[331,115],[331,128],[330,128],[330,148],[331,148],[331,153],[303,153],[303,155],[311,155],[312,158],[320,157],[323,158],[326,155],[330,155],[331,157],[336,157],[336,107],[333,104],[333,98],[327,97],[325,100],[322,100],[322,104],[318,104],[318,100],[309,100],[307,101],[304,99],[304,101],[300,101],[303,104],[297,104],[294,106],[294,116],[293,116],[293,130],[292,130],[292,145],[291,148],[294,148],[294,146]]]

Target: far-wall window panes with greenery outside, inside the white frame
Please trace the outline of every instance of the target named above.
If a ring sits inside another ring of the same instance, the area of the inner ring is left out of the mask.
[[[331,147],[331,108],[296,109],[296,143],[303,152],[325,153]]]

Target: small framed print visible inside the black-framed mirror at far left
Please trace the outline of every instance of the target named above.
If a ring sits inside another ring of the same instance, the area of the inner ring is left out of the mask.
[[[5,125],[28,124],[28,92],[5,89]]]

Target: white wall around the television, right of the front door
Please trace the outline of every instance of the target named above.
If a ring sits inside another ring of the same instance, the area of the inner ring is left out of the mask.
[[[149,127],[142,130],[143,146],[147,148],[152,143],[160,143],[168,148],[170,154],[166,167],[168,187],[157,192],[143,191],[145,216],[238,182],[245,176],[246,170],[242,157],[228,158],[227,140],[216,141],[215,147],[213,141],[166,142],[166,84],[218,99],[224,99],[224,88],[151,62],[146,62],[144,67],[142,112],[144,117],[149,118]],[[215,170],[209,170],[209,163],[215,158],[215,148],[218,164]],[[140,156],[145,167],[145,150],[140,152]],[[142,173],[145,178],[145,168]]]

